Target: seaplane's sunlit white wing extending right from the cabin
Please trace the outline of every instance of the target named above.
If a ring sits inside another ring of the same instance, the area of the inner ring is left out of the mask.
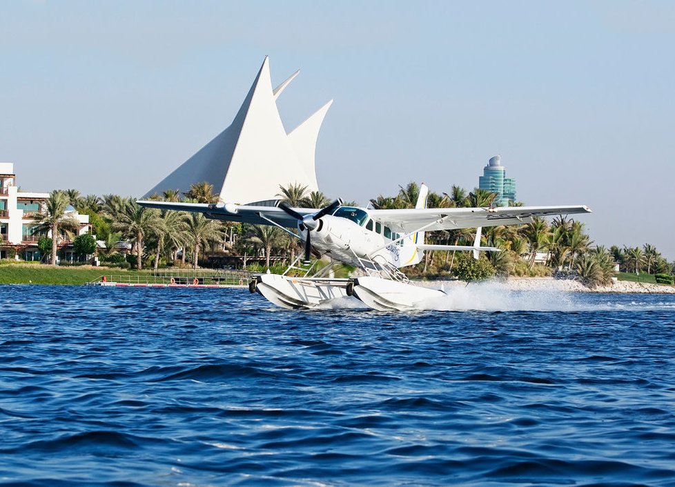
[[[519,225],[532,217],[591,213],[585,205],[578,206],[500,206],[497,208],[409,208],[404,210],[368,210],[395,232],[452,230],[479,226]],[[428,226],[427,226],[428,225]]]

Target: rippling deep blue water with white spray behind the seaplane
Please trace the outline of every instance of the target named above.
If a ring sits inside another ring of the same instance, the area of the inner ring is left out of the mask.
[[[0,301],[1,484],[675,486],[675,296],[488,288],[407,313],[244,290]]]

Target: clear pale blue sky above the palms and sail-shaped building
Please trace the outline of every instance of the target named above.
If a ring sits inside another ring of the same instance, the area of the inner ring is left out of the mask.
[[[675,259],[675,3],[1,1],[0,161],[26,190],[141,195],[228,126],[265,54],[290,129],[334,98],[332,197],[473,188],[589,205]]]

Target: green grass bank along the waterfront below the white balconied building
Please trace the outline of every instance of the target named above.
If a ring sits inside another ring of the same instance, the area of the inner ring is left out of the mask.
[[[141,271],[144,272],[144,271]],[[136,270],[111,270],[106,267],[52,267],[44,264],[2,264],[0,284],[85,284],[104,274],[138,275]],[[145,272],[144,272],[145,273]]]

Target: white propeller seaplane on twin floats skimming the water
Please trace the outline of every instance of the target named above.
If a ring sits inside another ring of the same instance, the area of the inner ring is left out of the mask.
[[[138,203],[148,208],[201,212],[217,220],[271,225],[300,239],[304,254],[284,274],[255,275],[249,283],[251,292],[260,293],[277,306],[310,309],[351,296],[380,311],[420,309],[425,302],[445,295],[442,288],[413,284],[400,270],[422,261],[425,251],[470,251],[478,259],[478,252],[500,251],[480,246],[482,227],[522,225],[533,217],[590,212],[583,205],[426,208],[428,192],[429,188],[422,184],[415,208],[400,210],[344,206],[339,199],[325,208],[291,208],[283,202],[275,206],[144,200]],[[458,228],[477,229],[473,246],[424,243],[425,232]],[[312,259],[313,256],[319,259]],[[317,266],[323,257],[329,257],[329,264]],[[336,264],[352,266],[359,275],[331,277]],[[302,275],[291,275],[294,269]]]

